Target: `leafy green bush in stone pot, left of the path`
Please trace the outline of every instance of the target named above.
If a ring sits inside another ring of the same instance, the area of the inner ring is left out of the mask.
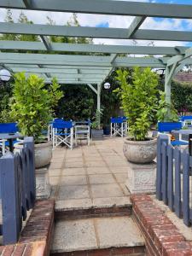
[[[44,79],[32,74],[15,74],[13,98],[11,99],[11,116],[17,121],[20,133],[34,137],[35,166],[40,168],[49,164],[52,157],[52,142],[42,137],[52,118],[53,108],[63,96],[56,79],[46,88]],[[22,147],[17,143],[15,148]]]

